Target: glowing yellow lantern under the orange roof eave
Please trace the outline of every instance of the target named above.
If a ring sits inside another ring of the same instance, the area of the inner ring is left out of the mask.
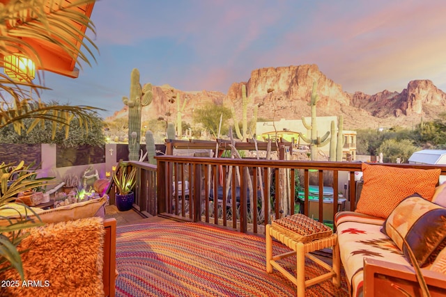
[[[4,56],[4,71],[15,81],[32,80],[36,77],[36,65],[22,54]]]

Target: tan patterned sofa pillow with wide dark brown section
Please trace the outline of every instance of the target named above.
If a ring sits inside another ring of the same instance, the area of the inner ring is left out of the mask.
[[[402,238],[406,239],[418,265],[424,266],[446,239],[446,209],[415,193],[398,204],[385,220],[382,231],[410,259]]]

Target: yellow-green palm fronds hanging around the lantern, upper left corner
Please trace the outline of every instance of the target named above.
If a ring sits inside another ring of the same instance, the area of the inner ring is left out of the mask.
[[[93,33],[95,28],[89,17],[74,9],[91,2],[94,0],[10,0],[6,4],[0,3],[0,67],[5,67],[3,56],[18,53],[31,58],[38,69],[45,69],[42,58],[29,40],[43,41],[62,49],[77,61],[81,69],[79,61],[91,65],[79,44],[94,61],[93,49],[98,48],[77,26],[81,24]],[[53,123],[53,137],[57,129],[61,128],[66,129],[68,137],[72,118],[79,118],[80,125],[88,130],[93,122],[89,111],[100,110],[92,106],[47,106],[39,98],[33,98],[42,89],[45,86],[40,74],[38,83],[33,83],[29,78],[14,81],[0,73],[0,129],[12,123],[20,134],[21,131],[31,131],[39,124],[44,125],[45,120],[50,120]],[[24,126],[22,120],[25,118],[34,119],[31,126]]]

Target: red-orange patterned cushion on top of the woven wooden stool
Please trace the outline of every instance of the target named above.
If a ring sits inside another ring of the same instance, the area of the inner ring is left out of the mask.
[[[293,216],[279,218],[272,221],[271,226],[291,239],[300,242],[322,239],[333,234],[330,227],[303,214],[293,214]]]

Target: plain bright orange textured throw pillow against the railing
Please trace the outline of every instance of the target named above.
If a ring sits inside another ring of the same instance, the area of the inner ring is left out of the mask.
[[[401,200],[413,193],[431,201],[441,170],[362,163],[362,172],[364,185],[355,211],[387,218]]]

